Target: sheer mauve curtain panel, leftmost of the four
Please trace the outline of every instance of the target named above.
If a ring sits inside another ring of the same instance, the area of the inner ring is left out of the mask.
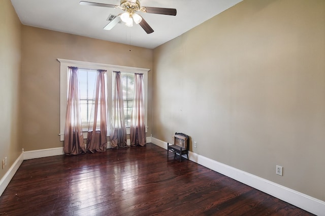
[[[64,130],[65,154],[81,154],[86,152],[83,143],[81,115],[80,115],[80,92],[78,81],[78,67],[68,67],[69,93],[67,102],[66,128]]]

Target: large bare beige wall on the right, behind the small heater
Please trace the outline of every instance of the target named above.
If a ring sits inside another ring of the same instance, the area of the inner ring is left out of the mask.
[[[323,0],[245,0],[154,49],[152,136],[325,201],[324,23]]]

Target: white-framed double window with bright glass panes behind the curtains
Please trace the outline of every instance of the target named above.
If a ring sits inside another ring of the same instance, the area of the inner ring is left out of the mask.
[[[66,59],[57,59],[60,62],[60,141],[64,140],[64,127],[66,123],[66,110],[67,110],[67,89],[68,89],[68,66],[74,66],[79,68],[79,83],[80,83],[80,99],[81,99],[81,115],[82,115],[82,127],[84,138],[87,138],[86,131],[88,130],[88,122],[91,119],[91,107],[93,104],[93,88],[95,82],[96,70],[107,70],[107,117],[108,117],[108,132],[109,136],[109,124],[111,122],[112,115],[112,73],[113,71],[121,71],[123,82],[123,99],[124,99],[124,115],[126,133],[129,134],[129,126],[131,124],[131,109],[133,105],[134,97],[134,73],[144,74],[144,92],[145,92],[145,121],[147,124],[147,91],[148,91],[148,71],[145,68],[126,67],[118,65],[108,65],[100,63],[82,62]],[[93,83],[93,84],[92,84]],[[99,125],[98,125],[99,126]]]

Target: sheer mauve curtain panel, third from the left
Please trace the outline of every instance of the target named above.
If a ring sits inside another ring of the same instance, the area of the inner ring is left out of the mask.
[[[121,73],[113,73],[113,102],[112,120],[110,126],[110,139],[112,148],[127,147],[126,128],[124,123],[123,88]]]

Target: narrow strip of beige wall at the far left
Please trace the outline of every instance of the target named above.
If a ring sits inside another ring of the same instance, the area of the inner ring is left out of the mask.
[[[10,0],[0,1],[0,179],[22,152],[18,143],[21,23]],[[7,166],[1,161],[7,157]]]

